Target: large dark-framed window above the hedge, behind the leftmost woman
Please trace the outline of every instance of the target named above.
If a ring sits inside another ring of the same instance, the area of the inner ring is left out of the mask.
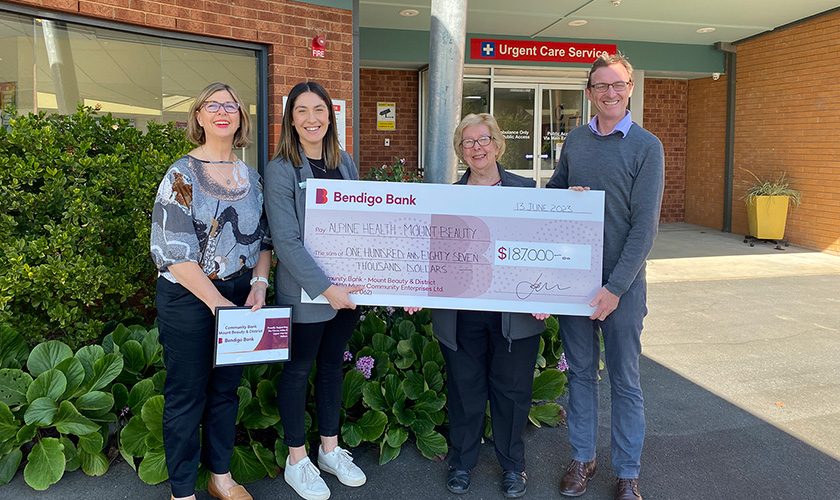
[[[239,92],[251,115],[251,145],[237,153],[257,167],[259,151],[267,151],[258,140],[265,135],[257,120],[265,107],[261,52],[0,12],[0,103],[58,113],[82,103],[141,130],[150,121],[186,126],[192,99],[221,81]]]

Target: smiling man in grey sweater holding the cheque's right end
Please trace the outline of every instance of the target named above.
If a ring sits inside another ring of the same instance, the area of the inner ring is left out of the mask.
[[[598,436],[599,330],[603,332],[612,403],[610,452],[616,500],[641,500],[639,469],[645,436],[639,378],[642,321],[647,314],[645,259],[653,246],[665,184],[662,143],[630,118],[633,68],[621,56],[592,65],[586,97],[597,113],[588,127],[569,133],[546,187],[603,190],[603,287],[590,317],[561,316],[569,364],[569,442],[572,461],[560,493],[579,496],[595,475]]]

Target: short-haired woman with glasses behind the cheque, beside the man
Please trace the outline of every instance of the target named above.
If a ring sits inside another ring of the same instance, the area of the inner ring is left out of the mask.
[[[498,159],[505,138],[487,113],[469,114],[455,129],[455,153],[467,164],[456,184],[534,187],[533,179],[507,172]],[[488,193],[488,196],[492,194]],[[416,308],[406,308],[412,314]],[[496,458],[502,466],[502,493],[525,494],[525,443],[533,392],[534,367],[548,314],[432,310],[449,388],[449,471],[446,487],[461,494],[470,489],[470,470],[478,463],[484,434],[484,411],[490,422]]]

